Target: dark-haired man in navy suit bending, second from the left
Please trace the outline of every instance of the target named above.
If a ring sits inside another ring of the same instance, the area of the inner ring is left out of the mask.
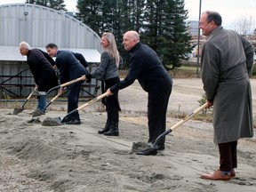
[[[76,79],[87,74],[84,66],[69,51],[60,51],[56,44],[47,44],[46,51],[51,57],[56,57],[55,63],[60,72],[60,84]],[[68,113],[78,107],[79,92],[82,82],[68,85]],[[60,88],[60,93],[65,88]],[[81,124],[78,112],[68,116],[66,124]]]

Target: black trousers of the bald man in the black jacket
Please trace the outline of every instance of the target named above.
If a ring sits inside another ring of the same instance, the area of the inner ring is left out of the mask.
[[[148,92],[148,142],[154,142],[156,138],[166,130],[166,112],[172,86],[164,92]],[[164,145],[165,137],[160,145]]]

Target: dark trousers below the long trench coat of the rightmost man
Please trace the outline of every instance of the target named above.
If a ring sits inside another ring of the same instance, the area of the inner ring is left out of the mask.
[[[232,171],[237,168],[236,147],[237,140],[228,143],[219,143],[220,171]]]

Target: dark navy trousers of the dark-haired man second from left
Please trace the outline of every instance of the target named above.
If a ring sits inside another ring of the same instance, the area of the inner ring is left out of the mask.
[[[81,82],[68,85],[68,113],[78,108],[79,93],[81,90]],[[80,120],[79,113],[76,111],[72,115],[68,116],[68,120]]]

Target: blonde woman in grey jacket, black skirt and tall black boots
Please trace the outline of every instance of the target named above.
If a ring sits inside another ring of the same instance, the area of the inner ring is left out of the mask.
[[[104,49],[100,57],[100,66],[86,77],[90,78],[92,76],[100,81],[104,81],[106,91],[109,87],[120,82],[118,75],[120,56],[116,48],[115,36],[112,33],[104,33],[101,36],[100,44]],[[108,136],[118,136],[119,111],[121,110],[118,92],[105,99],[108,118],[105,127],[99,133]]]

